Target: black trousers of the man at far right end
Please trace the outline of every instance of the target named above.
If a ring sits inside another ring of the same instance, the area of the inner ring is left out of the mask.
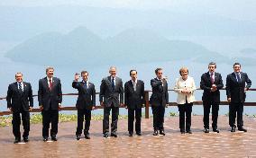
[[[242,120],[243,103],[242,102],[230,102],[229,104],[229,125],[235,127],[235,118],[237,114],[237,127],[243,126]]]

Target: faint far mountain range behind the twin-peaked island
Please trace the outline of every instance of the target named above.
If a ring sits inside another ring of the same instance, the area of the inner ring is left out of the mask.
[[[214,13],[178,13],[87,6],[18,7],[0,5],[0,40],[27,40],[46,31],[66,32],[83,25],[101,37],[129,28],[145,28],[172,36],[256,35],[256,22],[240,21]]]

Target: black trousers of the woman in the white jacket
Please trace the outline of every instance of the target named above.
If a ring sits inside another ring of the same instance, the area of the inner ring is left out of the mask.
[[[186,131],[191,127],[191,113],[193,103],[178,104],[179,111],[179,128],[180,131],[185,131],[185,115],[186,115]]]

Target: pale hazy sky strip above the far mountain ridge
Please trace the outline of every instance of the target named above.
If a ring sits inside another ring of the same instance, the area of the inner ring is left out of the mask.
[[[1,0],[0,2],[0,5],[25,7],[63,4],[210,13],[233,19],[256,21],[255,0]]]

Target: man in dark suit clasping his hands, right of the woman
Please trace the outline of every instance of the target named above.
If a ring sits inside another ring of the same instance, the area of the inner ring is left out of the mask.
[[[203,93],[203,106],[204,106],[204,127],[205,133],[209,133],[209,113],[212,106],[212,127],[213,131],[219,133],[217,128],[218,111],[220,104],[220,89],[224,87],[222,75],[215,72],[216,64],[214,62],[209,63],[208,69],[201,76],[200,88],[204,90]]]

